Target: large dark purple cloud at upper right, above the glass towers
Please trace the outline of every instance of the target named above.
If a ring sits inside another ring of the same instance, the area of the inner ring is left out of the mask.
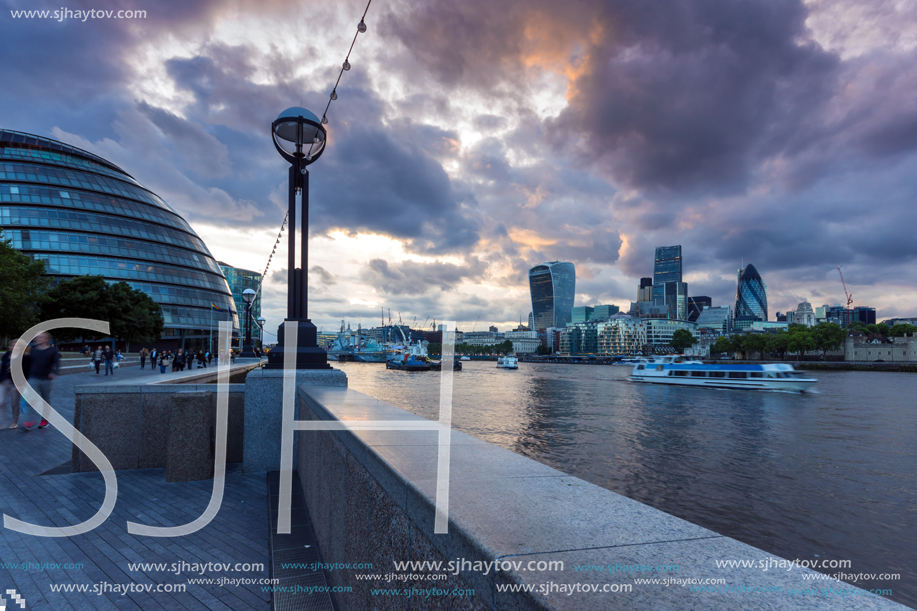
[[[819,137],[839,62],[805,35],[798,0],[608,3],[558,141],[582,139],[625,184],[744,190],[755,165]],[[817,123],[816,123],[817,127]]]

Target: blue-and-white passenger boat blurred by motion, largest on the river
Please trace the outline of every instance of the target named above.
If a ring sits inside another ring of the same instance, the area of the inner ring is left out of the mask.
[[[653,357],[634,367],[634,382],[746,388],[753,390],[811,390],[817,380],[786,363],[712,365],[684,356]]]

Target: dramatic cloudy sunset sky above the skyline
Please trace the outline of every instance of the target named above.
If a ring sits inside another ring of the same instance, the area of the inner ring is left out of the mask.
[[[55,0],[57,1],[57,0]],[[8,9],[60,4],[0,0]],[[321,112],[363,2],[92,0],[0,15],[0,125],[96,152],[260,271],[285,209],[271,120]],[[917,4],[910,0],[375,0],[312,167],[311,314],[330,329],[636,298],[681,244],[692,295],[754,263],[802,300],[917,314]],[[285,312],[285,248],[265,290]]]

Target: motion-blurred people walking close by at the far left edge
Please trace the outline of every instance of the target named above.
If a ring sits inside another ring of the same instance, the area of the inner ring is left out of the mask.
[[[13,359],[13,349],[16,347],[17,340],[9,343],[6,353],[0,360],[0,406],[9,405],[10,412],[13,415],[13,423],[10,429],[19,428],[19,417],[21,414],[22,395],[19,389],[13,383],[12,368],[16,364]],[[39,333],[35,336],[32,345],[25,349],[22,354],[22,373],[25,375],[29,386],[38,392],[38,395],[44,399],[45,403],[51,404],[51,384],[58,375],[60,375],[60,353],[57,348],[51,345],[51,335],[49,333]],[[43,429],[48,426],[48,421],[42,416],[38,422],[38,428]],[[35,427],[37,414],[33,415],[32,410],[25,416],[22,426],[26,430]]]

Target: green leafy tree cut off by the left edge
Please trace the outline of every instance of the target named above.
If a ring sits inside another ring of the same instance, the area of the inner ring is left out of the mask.
[[[39,308],[47,299],[44,273],[44,261],[22,254],[0,232],[0,339],[19,337],[39,322]]]

